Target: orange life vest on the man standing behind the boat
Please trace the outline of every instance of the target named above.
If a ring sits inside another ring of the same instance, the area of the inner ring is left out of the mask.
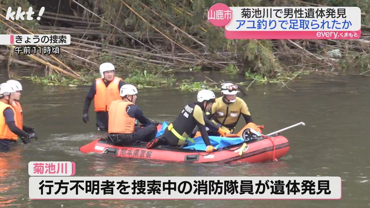
[[[108,87],[105,86],[104,80],[98,78],[95,80],[96,93],[94,96],[95,111],[108,111],[109,107],[114,100],[120,100],[120,90],[118,85],[122,78],[114,77],[109,83]]]

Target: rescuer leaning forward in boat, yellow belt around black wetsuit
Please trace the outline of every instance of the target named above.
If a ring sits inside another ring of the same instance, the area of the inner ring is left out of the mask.
[[[209,141],[206,127],[219,131],[222,135],[225,135],[225,131],[204,117],[204,112],[208,111],[213,103],[215,103],[216,96],[211,90],[201,90],[198,92],[197,98],[198,102],[187,104],[184,107],[176,120],[168,125],[163,135],[148,142],[148,149],[154,148],[158,144],[168,144],[172,147],[184,147],[187,140],[192,141],[189,135],[194,128],[198,126],[206,145],[206,152],[216,150]]]

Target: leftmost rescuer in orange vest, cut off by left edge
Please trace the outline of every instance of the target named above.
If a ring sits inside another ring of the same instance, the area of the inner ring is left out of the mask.
[[[10,145],[17,142],[18,136],[24,144],[30,142],[30,138],[37,137],[34,134],[27,134],[17,127],[17,118],[13,103],[15,90],[7,84],[0,84],[0,149],[9,150]]]

